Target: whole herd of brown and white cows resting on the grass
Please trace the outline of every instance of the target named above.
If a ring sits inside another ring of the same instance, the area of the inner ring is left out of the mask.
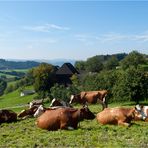
[[[30,102],[28,109],[19,114],[12,110],[0,110],[0,124],[3,122],[15,122],[28,117],[36,117],[36,125],[47,130],[77,129],[78,123],[84,119],[96,118],[100,124],[114,124],[130,126],[131,121],[148,121],[148,106],[136,105],[132,108],[115,107],[108,108],[106,101],[106,90],[81,92],[72,95],[70,102],[57,99],[51,101],[50,107],[46,108],[42,102]],[[83,104],[80,109],[74,108],[72,103]],[[89,108],[89,103],[101,103],[102,111],[95,116]]]

